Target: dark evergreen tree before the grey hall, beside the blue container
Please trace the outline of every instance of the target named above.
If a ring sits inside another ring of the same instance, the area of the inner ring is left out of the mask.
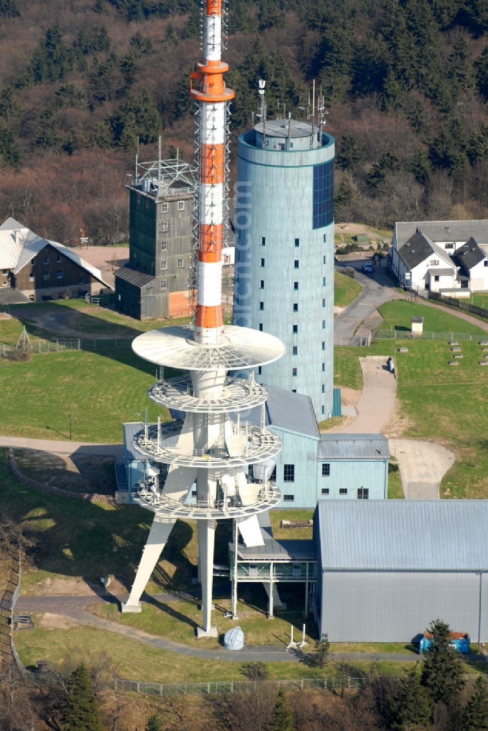
[[[462,659],[450,646],[451,630],[448,624],[437,619],[430,623],[432,640],[424,655],[421,685],[434,702],[449,703],[456,699],[465,684],[462,677]]]

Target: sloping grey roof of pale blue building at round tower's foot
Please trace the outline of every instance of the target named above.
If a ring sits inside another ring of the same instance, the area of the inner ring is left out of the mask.
[[[286,431],[296,431],[299,434],[319,438],[317,420],[313,410],[312,401],[309,396],[303,393],[293,393],[284,388],[268,386],[263,384],[268,392],[266,401],[266,425],[276,426]],[[256,406],[247,417],[241,414],[241,420],[252,425],[260,424],[261,409]],[[236,414],[231,414],[236,420]]]

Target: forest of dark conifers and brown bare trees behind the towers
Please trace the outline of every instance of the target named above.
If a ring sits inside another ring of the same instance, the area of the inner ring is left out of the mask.
[[[487,218],[487,26],[486,0],[231,0],[233,161],[258,79],[269,116],[299,118],[315,79],[337,221]],[[141,159],[159,133],[191,159],[200,57],[196,0],[0,0],[1,216],[67,243],[124,236],[137,139]]]

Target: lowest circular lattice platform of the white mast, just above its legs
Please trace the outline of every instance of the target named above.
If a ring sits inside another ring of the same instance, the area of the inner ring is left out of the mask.
[[[276,485],[271,482],[262,482],[261,488],[252,504],[243,505],[239,499],[200,500],[194,504],[186,504],[187,497],[175,500],[162,492],[140,490],[132,499],[135,503],[147,510],[153,510],[160,515],[170,515],[171,518],[222,520],[225,518],[249,518],[259,512],[274,507],[281,497]]]

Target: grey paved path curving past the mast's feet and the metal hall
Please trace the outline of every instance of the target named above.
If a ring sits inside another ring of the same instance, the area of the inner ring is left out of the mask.
[[[157,602],[175,602],[181,598],[183,597],[179,594],[151,594],[148,597],[149,601],[154,599]],[[143,632],[134,627],[96,617],[84,610],[87,605],[113,602],[114,600],[124,601],[125,599],[127,599],[127,594],[124,596],[113,596],[111,594],[102,596],[97,594],[89,596],[20,596],[15,610],[19,612],[59,614],[70,617],[80,624],[94,627],[94,629],[103,629],[105,632],[113,632],[116,635],[127,637],[129,640],[137,640],[143,645],[149,645],[158,650],[166,650],[204,660],[225,660],[228,662],[299,662],[301,660],[300,654],[285,652],[285,645],[282,645],[282,648],[277,648],[274,645],[244,647],[239,652],[225,650],[223,647],[218,650],[204,650],[195,646],[196,640],[195,645],[181,645],[180,643],[171,642],[171,640],[165,640],[164,637],[149,635],[148,632]],[[417,662],[419,656],[415,653],[341,652],[334,654],[334,659],[344,662],[376,662],[379,660],[386,662]]]

